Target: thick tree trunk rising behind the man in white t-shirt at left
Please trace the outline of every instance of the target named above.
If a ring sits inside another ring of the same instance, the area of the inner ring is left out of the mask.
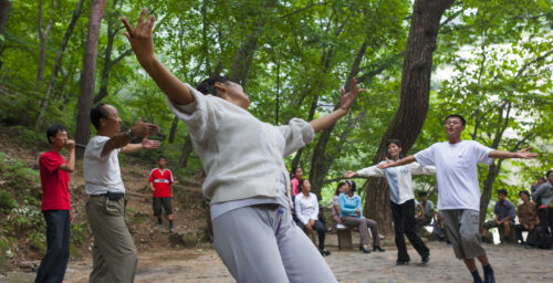
[[[91,136],[90,112],[92,98],[94,96],[94,86],[96,82],[96,59],[98,48],[100,29],[102,17],[104,14],[105,0],[93,0],[91,6],[91,15],[88,18],[88,28],[86,34],[86,45],[83,56],[83,72],[81,75],[81,96],[79,97],[75,142],[80,144],[88,143]],[[77,149],[76,156],[82,159],[83,149]]]

